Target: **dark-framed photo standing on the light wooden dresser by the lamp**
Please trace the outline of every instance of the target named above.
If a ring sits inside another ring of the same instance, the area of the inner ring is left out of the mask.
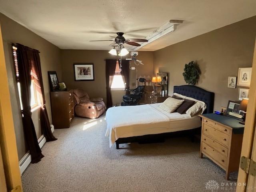
[[[239,110],[240,101],[228,101],[226,116],[241,120],[244,117],[244,112]]]

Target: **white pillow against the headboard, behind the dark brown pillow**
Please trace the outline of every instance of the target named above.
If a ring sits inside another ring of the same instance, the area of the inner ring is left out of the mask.
[[[188,100],[192,100],[195,101],[196,103],[194,105],[192,105],[187,111],[186,114],[190,115],[190,116],[198,116],[200,114],[202,114],[204,112],[204,110],[206,109],[206,104],[203,101],[200,100],[196,100],[192,97],[187,97],[178,93],[174,93],[175,96],[183,98],[183,99],[188,99]]]

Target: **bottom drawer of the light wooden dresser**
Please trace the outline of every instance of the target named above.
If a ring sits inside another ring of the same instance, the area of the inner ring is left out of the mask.
[[[227,158],[220,154],[217,150],[202,142],[202,152],[205,152],[210,159],[218,162],[223,168],[226,168]]]

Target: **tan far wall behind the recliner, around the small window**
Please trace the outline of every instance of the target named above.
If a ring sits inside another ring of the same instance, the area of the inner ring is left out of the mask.
[[[86,90],[90,97],[102,97],[106,102],[106,75],[105,59],[117,59],[107,50],[61,50],[62,77],[68,88],[82,88]],[[130,56],[127,56],[130,58]],[[138,76],[152,75],[153,52],[139,52],[137,57],[144,62],[144,66],[138,66]],[[124,59],[124,57],[123,57]],[[93,63],[94,81],[75,81],[74,63]],[[136,85],[136,72],[130,72],[130,84]],[[113,103],[120,104],[124,91],[112,91]]]

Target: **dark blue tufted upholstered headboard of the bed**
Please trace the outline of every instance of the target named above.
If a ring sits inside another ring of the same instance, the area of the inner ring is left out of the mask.
[[[204,113],[213,113],[213,92],[209,92],[202,88],[192,85],[174,86],[173,92],[205,102],[206,110],[204,111]]]

